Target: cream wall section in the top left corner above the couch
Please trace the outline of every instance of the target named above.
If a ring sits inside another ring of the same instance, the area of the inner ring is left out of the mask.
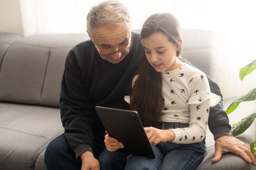
[[[23,35],[20,0],[0,0],[0,32]]]

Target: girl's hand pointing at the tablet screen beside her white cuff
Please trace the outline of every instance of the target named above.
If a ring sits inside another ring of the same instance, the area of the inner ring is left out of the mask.
[[[158,129],[154,127],[144,128],[149,143],[157,145],[159,142],[171,142],[175,139],[175,133],[171,129]]]

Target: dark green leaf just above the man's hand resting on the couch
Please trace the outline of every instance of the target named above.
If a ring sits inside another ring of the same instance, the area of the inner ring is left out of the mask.
[[[231,129],[231,134],[233,136],[237,136],[242,134],[246,129],[250,127],[250,125],[254,122],[256,118],[256,112],[252,113],[251,115],[241,119],[237,123],[233,124]]]

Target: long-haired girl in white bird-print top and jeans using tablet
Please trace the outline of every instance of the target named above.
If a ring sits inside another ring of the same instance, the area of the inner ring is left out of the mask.
[[[206,154],[209,107],[220,97],[211,93],[202,71],[179,59],[182,37],[176,17],[150,16],[140,36],[145,52],[125,100],[138,111],[156,158],[129,155],[125,170],[195,170]],[[107,142],[106,147],[118,149]]]

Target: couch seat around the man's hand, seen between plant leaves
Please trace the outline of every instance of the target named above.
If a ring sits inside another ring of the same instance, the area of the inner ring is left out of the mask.
[[[229,104],[232,103],[235,98],[230,98],[224,100],[224,109],[227,109]],[[236,108],[236,110],[229,114],[230,124],[238,122],[244,117],[250,115],[251,113],[256,111],[256,101],[251,102],[241,102],[240,105]],[[256,141],[256,121],[252,123],[252,125],[241,135],[236,136],[241,141],[246,143],[251,143]],[[235,155],[233,153],[225,153],[223,154],[221,160],[217,163],[211,163],[211,159],[215,154],[214,147],[214,139],[213,135],[207,129],[206,134],[206,146],[207,146],[207,155],[205,156],[201,165],[197,168],[197,170],[256,170],[256,167],[246,163],[241,157]]]

